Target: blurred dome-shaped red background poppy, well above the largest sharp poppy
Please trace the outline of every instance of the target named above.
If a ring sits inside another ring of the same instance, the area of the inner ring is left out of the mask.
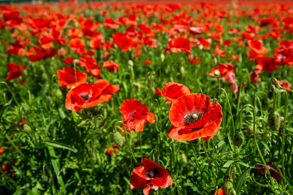
[[[185,39],[183,37],[176,37],[168,43],[168,47],[165,49],[165,52],[169,51],[174,53],[186,51],[187,55],[190,55],[190,42],[188,39]]]

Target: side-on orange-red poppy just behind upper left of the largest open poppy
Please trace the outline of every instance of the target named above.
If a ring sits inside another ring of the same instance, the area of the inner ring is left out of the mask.
[[[177,98],[181,97],[182,95],[190,94],[190,90],[188,89],[188,87],[175,82],[168,82],[165,86],[163,86],[163,91],[157,88],[155,92],[156,94],[162,95],[163,97],[167,98],[165,102],[166,104],[170,104],[171,101],[176,101]]]

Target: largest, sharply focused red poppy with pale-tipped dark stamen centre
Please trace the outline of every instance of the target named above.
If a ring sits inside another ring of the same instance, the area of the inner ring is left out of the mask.
[[[169,110],[172,126],[168,137],[173,140],[194,140],[202,137],[209,140],[219,130],[222,122],[222,107],[210,102],[204,94],[190,94],[179,97]]]

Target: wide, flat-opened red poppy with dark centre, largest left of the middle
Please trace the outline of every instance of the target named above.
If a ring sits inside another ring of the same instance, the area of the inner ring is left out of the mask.
[[[96,83],[83,83],[69,90],[65,100],[66,108],[77,112],[82,108],[93,107],[109,101],[112,95],[108,93],[117,93],[119,86],[112,86],[108,81],[100,80]]]

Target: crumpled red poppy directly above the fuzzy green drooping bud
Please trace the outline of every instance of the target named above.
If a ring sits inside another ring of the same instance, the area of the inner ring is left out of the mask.
[[[124,116],[122,121],[127,131],[143,131],[147,121],[149,123],[155,122],[155,114],[149,112],[147,105],[142,104],[142,102],[136,99],[122,102],[120,112]]]

